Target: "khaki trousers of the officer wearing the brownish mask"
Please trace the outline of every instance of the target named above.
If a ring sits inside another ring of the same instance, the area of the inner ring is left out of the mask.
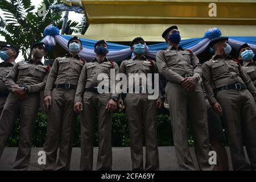
[[[15,119],[20,113],[19,147],[14,170],[27,170],[30,163],[32,134],[40,106],[40,93],[28,93],[26,100],[18,100],[13,93],[7,97],[0,117],[0,157],[13,131]]]

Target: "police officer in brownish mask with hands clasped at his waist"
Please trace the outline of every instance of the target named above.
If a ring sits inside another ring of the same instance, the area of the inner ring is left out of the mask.
[[[41,62],[46,55],[44,43],[36,43],[31,48],[32,59],[20,61],[6,77],[10,90],[0,117],[0,156],[13,130],[14,120],[20,113],[19,147],[14,162],[14,170],[26,170],[30,163],[32,133],[40,106],[40,91],[44,90],[48,69]]]

